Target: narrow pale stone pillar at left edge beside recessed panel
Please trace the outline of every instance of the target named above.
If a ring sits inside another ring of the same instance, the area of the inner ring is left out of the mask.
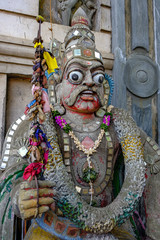
[[[5,112],[6,112],[6,90],[7,74],[0,73],[0,155],[5,136]]]

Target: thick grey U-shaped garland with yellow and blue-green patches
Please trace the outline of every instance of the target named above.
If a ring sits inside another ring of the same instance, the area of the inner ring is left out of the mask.
[[[139,129],[125,111],[116,108],[112,111],[112,124],[122,146],[126,170],[121,191],[112,203],[103,208],[96,208],[81,198],[63,165],[56,139],[51,140],[50,156],[53,158],[49,157],[45,171],[46,179],[56,182],[59,192],[57,204],[64,216],[80,228],[94,233],[110,232],[114,226],[128,218],[142,196],[145,185],[145,162]],[[53,132],[48,131],[48,139],[51,139],[52,135]],[[69,214],[66,209],[69,210]]]

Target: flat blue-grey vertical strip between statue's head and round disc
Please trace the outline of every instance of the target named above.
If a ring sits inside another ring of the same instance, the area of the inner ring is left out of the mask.
[[[113,79],[115,81],[112,104],[115,107],[126,108],[126,86],[124,85],[125,67],[125,1],[112,0],[112,52],[115,55]]]

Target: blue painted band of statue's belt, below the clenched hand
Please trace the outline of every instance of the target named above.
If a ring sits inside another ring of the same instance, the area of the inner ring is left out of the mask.
[[[79,235],[74,238],[67,235],[67,229],[69,226],[77,228],[77,226],[75,224],[73,224],[70,220],[68,220],[67,218],[58,217],[58,220],[60,220],[61,222],[63,222],[66,225],[66,228],[64,229],[63,233],[58,233],[54,229],[54,220],[52,221],[51,225],[49,226],[48,224],[46,224],[44,222],[44,220],[45,220],[44,216],[45,216],[45,214],[43,214],[41,218],[37,218],[36,222],[46,232],[49,232],[52,235],[54,235],[55,237],[58,237],[62,240],[83,240],[83,238],[81,238]]]

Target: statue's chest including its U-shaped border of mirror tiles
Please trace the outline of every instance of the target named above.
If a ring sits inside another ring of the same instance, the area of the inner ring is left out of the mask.
[[[86,148],[93,148],[95,141],[99,137],[99,132],[94,133],[79,133],[75,135],[79,142]],[[72,180],[75,183],[75,188],[86,200],[90,199],[90,184],[86,181],[85,170],[88,167],[87,154],[79,150],[77,144],[71,139],[68,134],[63,133],[61,147],[63,148],[64,164]],[[104,134],[96,152],[90,155],[93,174],[96,173],[96,178],[93,181],[94,199],[96,202],[106,195],[106,189],[111,179],[112,160],[113,160],[113,139],[109,132]],[[88,176],[89,177],[89,176]],[[110,201],[110,200],[109,200]]]

